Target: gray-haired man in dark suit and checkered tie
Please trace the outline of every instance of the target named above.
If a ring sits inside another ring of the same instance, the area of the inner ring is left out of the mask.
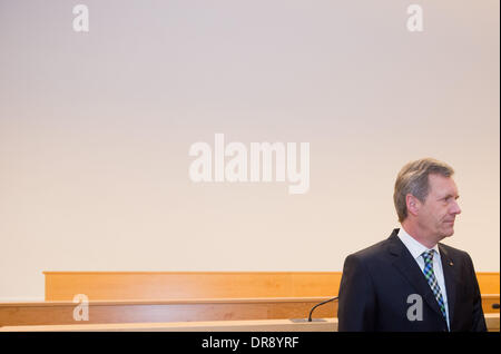
[[[346,257],[338,331],[487,331],[470,256],[439,243],[461,213],[453,173],[430,158],[402,168],[393,195],[402,228]]]

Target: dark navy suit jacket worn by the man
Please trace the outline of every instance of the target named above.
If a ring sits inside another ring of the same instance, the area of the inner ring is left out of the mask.
[[[397,233],[396,228],[390,238],[346,257],[338,294],[338,331],[448,331],[423,272]],[[450,330],[487,331],[470,256],[443,244],[439,244],[439,249]],[[416,304],[407,303],[412,294],[421,295],[421,321],[407,317],[407,311]]]

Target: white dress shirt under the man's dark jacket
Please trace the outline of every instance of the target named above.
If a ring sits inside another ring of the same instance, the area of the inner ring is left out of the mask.
[[[440,257],[439,246],[435,245],[433,248],[428,248],[424,245],[420,244],[418,240],[415,240],[414,237],[409,235],[403,227],[399,230],[399,238],[402,240],[402,243],[407,247],[411,255],[414,257],[415,262],[421,268],[421,272],[424,271],[424,258],[422,256],[423,252],[433,249],[433,272],[435,273],[436,282],[440,286],[440,292],[442,293],[443,303],[445,305],[445,314],[446,314],[446,322],[448,327],[451,328],[449,324],[449,306],[448,306],[448,294],[445,291],[445,279],[443,277],[443,269],[442,269],[442,259]],[[423,273],[424,274],[424,273]]]

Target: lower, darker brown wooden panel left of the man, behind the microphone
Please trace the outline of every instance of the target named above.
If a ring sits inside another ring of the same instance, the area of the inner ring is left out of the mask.
[[[140,323],[228,319],[305,318],[325,298],[237,298],[184,301],[89,302],[87,323]],[[0,304],[0,326],[75,324],[72,302]],[[337,304],[315,309],[314,317],[332,317]]]

